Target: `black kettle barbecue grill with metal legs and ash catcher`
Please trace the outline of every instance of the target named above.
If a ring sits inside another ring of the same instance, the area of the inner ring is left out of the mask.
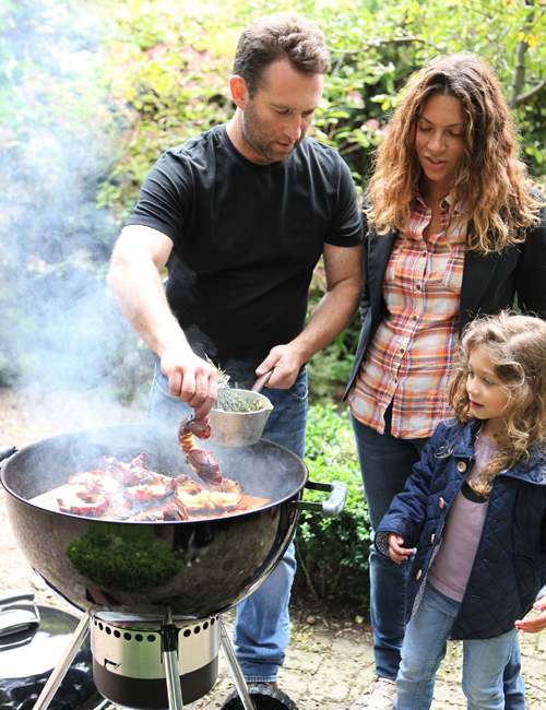
[[[142,451],[154,471],[189,473],[176,441],[145,425],[90,429],[15,453],[0,451],[0,460],[9,457],[1,478],[21,548],[44,581],[84,613],[34,710],[49,707],[90,632],[94,682],[118,705],[182,710],[213,687],[222,650],[245,710],[294,710],[278,690],[249,691],[222,613],[273,571],[294,535],[299,510],[329,517],[341,512],[345,484],[309,482],[298,457],[262,439],[248,447],[213,447],[225,477],[270,500],[258,510],[204,520],[129,522],[83,518],[32,502],[75,472],[93,469],[103,455],[132,460]],[[322,504],[302,502],[304,487],[330,496]]]

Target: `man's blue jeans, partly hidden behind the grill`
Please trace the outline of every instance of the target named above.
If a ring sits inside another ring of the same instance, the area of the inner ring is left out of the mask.
[[[307,372],[304,370],[289,390],[270,390],[262,394],[273,404],[262,437],[305,455],[307,422]],[[154,382],[147,406],[149,421],[164,433],[176,436],[180,422],[192,410],[168,390],[168,380],[155,366]],[[171,431],[170,431],[171,430]],[[290,640],[288,602],[296,572],[294,542],[270,577],[237,606],[234,643],[237,660],[247,682],[272,683],[284,661]]]

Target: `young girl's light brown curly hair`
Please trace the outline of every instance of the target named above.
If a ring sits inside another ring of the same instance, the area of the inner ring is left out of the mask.
[[[506,426],[496,435],[498,455],[484,466],[477,488],[487,493],[500,471],[527,461],[532,447],[546,441],[546,322],[531,316],[478,318],[464,330],[449,386],[449,403],[460,424],[474,418],[466,379],[471,353],[490,358],[494,374],[508,395]]]

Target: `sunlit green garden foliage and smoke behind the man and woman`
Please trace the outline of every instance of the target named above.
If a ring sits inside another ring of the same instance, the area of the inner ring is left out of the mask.
[[[546,0],[3,0],[0,384],[93,387],[134,351],[105,291],[114,240],[158,155],[233,115],[241,28],[286,9],[324,29],[333,62],[310,134],[360,194],[407,78],[459,50],[497,70],[531,173],[546,174]],[[340,399],[358,329],[311,362],[313,401]]]

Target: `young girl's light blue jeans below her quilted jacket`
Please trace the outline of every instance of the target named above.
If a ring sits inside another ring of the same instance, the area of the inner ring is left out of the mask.
[[[427,582],[419,608],[406,628],[393,710],[430,708],[436,673],[460,605]],[[492,639],[463,641],[463,693],[468,710],[505,709],[502,674],[514,646],[515,628]]]

